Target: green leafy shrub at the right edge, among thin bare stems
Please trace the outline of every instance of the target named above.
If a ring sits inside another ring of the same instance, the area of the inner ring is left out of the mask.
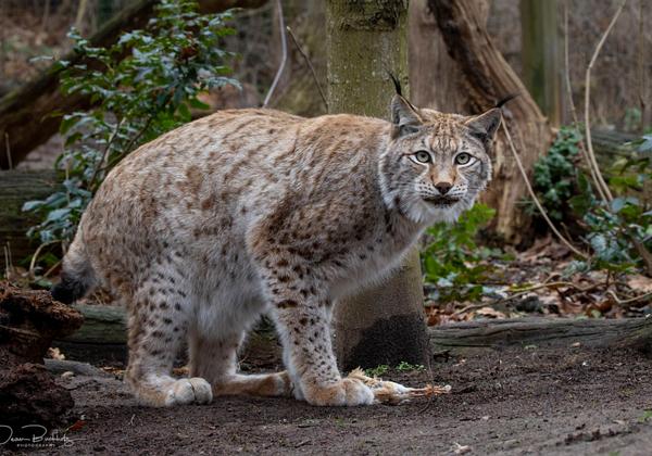
[[[592,253],[589,261],[573,262],[567,273],[642,268],[642,250],[652,248],[652,211],[643,191],[652,177],[652,136],[631,144],[630,155],[607,169],[614,194],[609,203],[595,195],[587,173],[578,166],[581,139],[578,129],[561,128],[534,168],[534,188],[550,217],[579,227],[578,238]]]

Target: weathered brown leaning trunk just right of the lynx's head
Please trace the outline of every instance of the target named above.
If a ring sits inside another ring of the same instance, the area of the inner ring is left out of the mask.
[[[503,110],[521,161],[530,172],[543,155],[551,130],[537,103],[498,51],[485,26],[482,2],[428,0],[451,58],[457,63],[473,113],[482,112],[511,93],[519,97]],[[482,201],[497,210],[493,228],[505,241],[527,242],[529,217],[518,206],[526,187],[502,131],[493,148],[493,180]]]

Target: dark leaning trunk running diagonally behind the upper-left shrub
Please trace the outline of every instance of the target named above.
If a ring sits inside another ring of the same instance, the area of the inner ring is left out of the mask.
[[[203,13],[214,13],[229,8],[254,8],[266,0],[200,0]],[[139,0],[116,14],[104,27],[89,38],[91,46],[108,47],[122,33],[141,28],[153,13],[156,0]],[[63,60],[72,64],[88,63],[74,52]],[[49,68],[23,87],[0,100],[0,169],[18,164],[34,148],[46,142],[59,129],[61,115],[87,109],[88,100],[82,96],[64,96],[59,90],[61,69]]]

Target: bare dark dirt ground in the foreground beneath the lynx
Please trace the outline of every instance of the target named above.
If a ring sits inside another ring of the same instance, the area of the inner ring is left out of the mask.
[[[389,371],[385,379],[453,388],[400,406],[217,397],[170,409],[138,406],[112,377],[77,376],[59,381],[84,422],[47,453],[650,455],[651,372],[636,352],[525,347],[437,359],[431,378]]]

